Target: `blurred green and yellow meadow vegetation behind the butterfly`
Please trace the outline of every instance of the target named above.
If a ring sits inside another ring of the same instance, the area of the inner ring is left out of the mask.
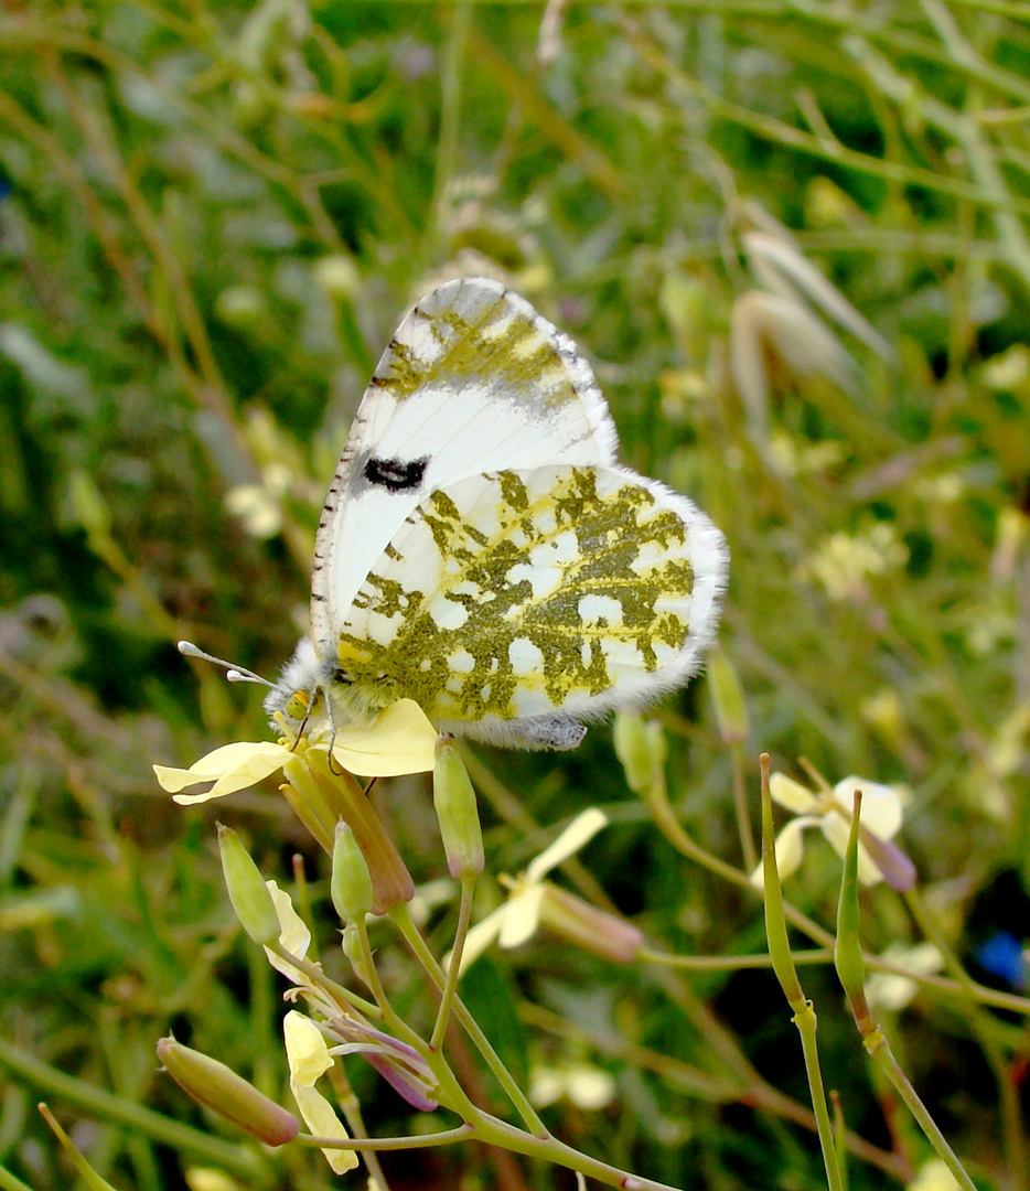
[[[682,825],[745,871],[735,763],[756,822],[760,750],[905,785],[922,893],[867,891],[867,949],[929,929],[1013,996],[956,994],[953,971],[887,1028],[979,1185],[1025,1186],[1030,5],[35,0],[5,6],[0,51],[4,1178],[68,1186],[46,1098],[118,1186],[333,1181],[156,1072],[171,1028],[271,1095],[285,1078],[281,989],[227,905],[214,815],[149,767],[260,738],[257,693],[173,642],[275,674],[379,351],[435,281],[488,272],[589,353],[623,457],[729,537],[720,641],[750,734],[724,743],[705,680],[666,703]],[[835,292],[770,301],[784,252]],[[476,750],[474,775],[491,872],[600,804],[614,825],[567,879],[588,872],[657,948],[762,952],[760,899],[662,837],[606,729],[572,756]],[[379,802],[416,879],[441,878],[425,785]],[[323,858],[274,788],[218,815],[281,881],[302,852],[339,962]],[[813,840],[786,893],[831,928],[838,879]],[[479,912],[500,896],[485,881]],[[447,904],[430,929],[445,947]],[[422,997],[379,946],[398,998]],[[926,1186],[832,969],[803,975],[864,1140],[851,1186]],[[767,969],[617,968],[542,934],[466,993],[514,1070],[562,1077],[564,1140],[685,1187],[824,1185]],[[575,1065],[611,1077],[599,1108]],[[352,1078],[374,1133],[432,1125]],[[472,1148],[387,1172],[573,1185]]]

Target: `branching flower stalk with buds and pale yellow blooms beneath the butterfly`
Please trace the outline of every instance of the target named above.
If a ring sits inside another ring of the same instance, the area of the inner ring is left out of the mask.
[[[361,742],[357,743],[361,747]],[[307,741],[298,749],[255,744],[236,747],[231,753],[220,750],[220,754],[204,759],[192,771],[160,769],[158,778],[186,802],[243,788],[256,778],[282,768],[287,778],[282,787],[285,796],[314,837],[331,852],[330,892],[345,927],[344,955],[369,996],[360,996],[332,980],[320,962],[308,958],[311,933],[291,898],[274,881],[261,877],[235,831],[219,828],[223,872],[233,910],[250,939],[264,948],[273,967],[289,980],[286,999],[302,1002],[306,1006],[305,1011],[293,1009],[287,1014],[283,1031],[291,1089],[308,1129],[298,1131],[296,1123],[291,1123],[293,1118],[283,1115],[285,1110],[277,1109],[221,1064],[168,1041],[163,1054],[175,1060],[174,1074],[180,1086],[216,1111],[220,1111],[224,1103],[236,1105],[232,1120],[266,1143],[295,1141],[320,1149],[337,1174],[354,1167],[358,1152],[369,1153],[374,1159],[372,1152],[476,1140],[566,1166],[611,1186],[675,1191],[668,1184],[593,1159],[554,1137],[462,1003],[457,993],[461,959],[468,939],[475,879],[483,867],[483,850],[475,794],[448,738],[437,741],[433,756],[435,802],[444,850],[461,890],[455,946],[447,966],[437,961],[411,915],[407,905],[413,892],[411,878],[382,833],[360,784],[349,773],[336,773],[324,748]],[[424,755],[405,760],[402,749],[392,760],[380,755],[372,767],[402,772],[406,763],[424,767],[423,760]],[[186,785],[201,779],[214,781],[208,794],[179,793]],[[335,823],[333,816],[337,816]],[[642,942],[635,928],[543,880],[551,865],[572,854],[606,823],[598,811],[580,818],[582,823],[574,822],[563,837],[535,861],[533,880],[523,898],[532,904],[529,931],[532,933],[538,922],[549,922],[583,946],[589,946],[592,934],[600,935],[604,937],[595,940],[593,949],[616,961],[630,962]],[[525,909],[519,912],[525,917]],[[388,916],[439,991],[441,1003],[429,1041],[408,1025],[391,1003],[376,969],[367,927],[369,915]],[[520,929],[525,929],[525,923]],[[443,1047],[451,1018],[482,1054],[522,1117],[523,1128],[485,1111],[462,1086]],[[462,1123],[438,1134],[416,1137],[351,1136],[360,1125],[360,1115],[347,1112],[349,1131],[337,1109],[318,1087],[345,1055],[366,1059],[419,1111],[444,1108]],[[286,1124],[280,1124],[280,1118]]]

